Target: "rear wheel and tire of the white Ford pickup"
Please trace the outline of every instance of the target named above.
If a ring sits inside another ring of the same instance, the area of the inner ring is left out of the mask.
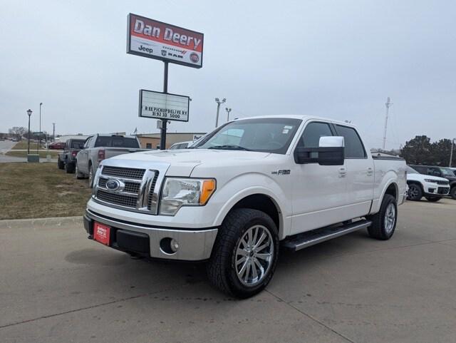
[[[398,222],[398,204],[393,195],[385,194],[380,211],[367,219],[372,220],[372,225],[368,227],[369,236],[376,240],[389,240],[393,237]]]

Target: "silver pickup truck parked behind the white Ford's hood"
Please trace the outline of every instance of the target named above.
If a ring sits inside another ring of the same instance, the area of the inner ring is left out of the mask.
[[[140,142],[135,136],[91,135],[76,155],[76,178],[88,178],[88,185],[92,188],[93,175],[98,168],[98,163],[105,158],[142,150],[147,149],[140,149]]]

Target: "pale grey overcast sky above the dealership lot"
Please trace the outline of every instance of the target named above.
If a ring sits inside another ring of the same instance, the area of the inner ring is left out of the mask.
[[[204,33],[201,69],[170,64],[170,93],[188,95],[206,132],[215,97],[231,116],[276,113],[355,123],[387,148],[456,136],[455,1],[1,1],[0,131],[157,132],[138,118],[138,90],[162,91],[163,63],[125,53],[128,13]],[[226,112],[221,118],[226,120]]]

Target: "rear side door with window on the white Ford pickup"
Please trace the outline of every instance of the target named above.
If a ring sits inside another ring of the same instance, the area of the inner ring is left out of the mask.
[[[336,124],[345,141],[348,212],[352,217],[369,213],[373,199],[373,159],[368,156],[355,128]]]

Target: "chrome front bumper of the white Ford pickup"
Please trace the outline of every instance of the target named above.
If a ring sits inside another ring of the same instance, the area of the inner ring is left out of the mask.
[[[84,227],[89,235],[93,235],[93,222],[113,227],[111,232],[110,246],[126,252],[135,252],[135,250],[126,249],[125,247],[115,244],[115,237],[118,230],[122,232],[133,232],[147,235],[149,237],[150,250],[147,255],[154,258],[162,258],[166,260],[184,260],[184,261],[200,261],[209,259],[212,246],[214,245],[215,237],[217,237],[217,228],[202,229],[202,230],[186,230],[163,227],[147,227],[144,225],[135,225],[132,223],[120,222],[111,218],[97,215],[96,213],[86,210],[84,215]],[[160,247],[160,242],[164,238],[172,238],[179,243],[179,249],[173,253],[167,253]],[[142,252],[140,255],[144,255]]]

